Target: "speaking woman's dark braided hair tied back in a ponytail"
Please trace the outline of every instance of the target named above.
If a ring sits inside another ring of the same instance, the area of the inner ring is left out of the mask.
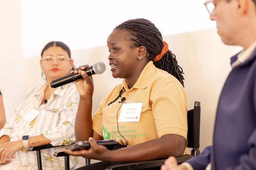
[[[116,29],[127,30],[129,32],[127,41],[131,41],[131,48],[144,46],[147,49],[146,57],[148,62],[154,60],[164,46],[161,32],[147,19],[131,19],[116,26],[114,30]],[[172,54],[170,50],[168,50],[160,60],[154,62],[154,65],[158,69],[172,74],[184,87],[183,70],[178,65],[176,56]]]

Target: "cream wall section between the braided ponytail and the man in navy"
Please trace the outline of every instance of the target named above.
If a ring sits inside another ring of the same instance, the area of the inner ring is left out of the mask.
[[[241,48],[227,46],[217,29],[165,36],[185,75],[189,109],[201,102],[200,148],[212,144],[213,125],[220,91],[228,76],[230,57]]]

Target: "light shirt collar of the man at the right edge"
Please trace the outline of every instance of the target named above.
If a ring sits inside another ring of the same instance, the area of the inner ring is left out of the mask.
[[[254,43],[252,43],[252,45],[249,48],[241,51],[237,55],[237,60],[231,64],[232,68],[234,69],[239,64],[244,63],[252,55],[255,48],[256,48],[256,41],[254,41]]]

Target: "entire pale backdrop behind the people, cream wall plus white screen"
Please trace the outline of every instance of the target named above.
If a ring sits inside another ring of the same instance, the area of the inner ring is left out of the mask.
[[[131,18],[147,18],[162,32],[185,72],[189,109],[201,102],[200,150],[212,144],[220,90],[231,70],[229,58],[240,47],[224,45],[204,0],[0,0],[0,90],[7,121],[24,94],[41,82],[41,50],[49,41],[63,41],[75,66],[106,64],[94,75],[93,112],[120,83],[108,66],[107,37]],[[83,159],[82,159],[83,160]],[[84,165],[81,163],[80,165]]]

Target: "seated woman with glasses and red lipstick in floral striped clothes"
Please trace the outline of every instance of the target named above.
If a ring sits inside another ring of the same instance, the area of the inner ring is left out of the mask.
[[[26,94],[15,116],[0,130],[1,163],[6,163],[15,153],[15,160],[0,169],[37,169],[36,153],[28,152],[29,147],[68,145],[75,141],[74,123],[79,102],[75,83],[55,89],[50,86],[52,80],[72,70],[70,49],[62,42],[52,41],[45,45],[41,56],[40,65],[46,80]],[[60,149],[41,151],[43,169],[64,167],[64,158],[53,157]],[[71,169],[76,164],[76,157],[71,157]]]

